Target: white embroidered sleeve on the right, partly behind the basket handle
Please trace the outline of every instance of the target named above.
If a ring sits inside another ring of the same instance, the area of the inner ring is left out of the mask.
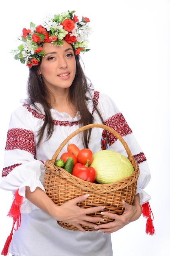
[[[105,124],[116,130],[123,137],[128,144],[135,161],[139,164],[140,174],[137,180],[137,193],[140,195],[140,203],[142,205],[150,200],[150,195],[144,191],[150,181],[150,170],[146,156],[135,139],[124,116],[113,100],[102,93],[99,94],[98,98],[98,108],[102,113]],[[108,146],[110,150],[119,152],[126,157],[128,156],[122,143],[110,132],[108,132]]]

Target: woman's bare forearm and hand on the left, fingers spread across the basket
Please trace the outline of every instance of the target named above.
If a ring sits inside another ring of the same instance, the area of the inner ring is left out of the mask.
[[[85,229],[81,225],[98,228],[94,222],[102,221],[101,217],[92,217],[88,214],[102,211],[105,207],[96,206],[84,209],[78,207],[77,203],[85,201],[88,194],[78,196],[61,206],[54,204],[54,202],[48,197],[46,193],[39,187],[35,191],[31,192],[29,186],[26,186],[26,198],[37,207],[48,213],[54,219],[69,223],[77,227],[80,231],[86,233]]]

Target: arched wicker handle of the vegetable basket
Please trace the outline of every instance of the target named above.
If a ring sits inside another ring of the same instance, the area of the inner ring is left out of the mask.
[[[122,143],[122,145],[124,146],[124,148],[126,150],[126,153],[128,155],[129,161],[131,162],[133,167],[135,166],[135,161],[134,161],[133,155],[132,155],[131,150],[129,149],[126,141],[122,138],[122,136],[118,132],[116,132],[116,130],[110,128],[109,126],[106,126],[105,124],[87,124],[86,126],[78,128],[77,130],[72,132],[65,140],[63,140],[63,142],[60,144],[59,148],[55,151],[55,153],[54,153],[54,155],[51,159],[51,162],[54,164],[54,162],[57,159],[60,151],[70,141],[70,139],[72,139],[72,137],[74,137],[78,133],[83,132],[84,130],[87,130],[87,129],[90,129],[90,128],[103,128],[104,130],[108,130],[109,132],[113,133],[113,135],[115,135],[117,137],[117,139],[119,139],[120,142]]]

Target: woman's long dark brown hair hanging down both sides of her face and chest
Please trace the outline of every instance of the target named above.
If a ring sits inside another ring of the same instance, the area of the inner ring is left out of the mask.
[[[81,119],[79,120],[80,126],[85,126],[87,124],[92,124],[94,122],[93,115],[89,112],[86,106],[86,101],[89,99],[86,97],[86,92],[89,92],[90,95],[90,89],[88,85],[88,79],[85,76],[83,72],[83,68],[80,63],[80,56],[75,55],[76,59],[76,75],[74,78],[74,81],[72,82],[72,85],[70,86],[70,101],[71,103],[76,107],[76,110],[80,112]],[[41,62],[39,63],[39,65]],[[49,139],[52,136],[54,125],[52,121],[52,117],[50,114],[50,104],[48,103],[47,99],[49,97],[52,97],[50,95],[50,92],[48,91],[41,75],[38,74],[38,65],[33,66],[29,70],[29,76],[28,76],[28,83],[27,83],[27,93],[28,93],[28,99],[30,101],[30,104],[33,104],[35,106],[35,103],[41,103],[41,105],[44,108],[45,112],[45,120],[43,126],[39,129],[38,136],[39,140],[37,145],[40,144],[45,129],[46,129],[46,139]],[[93,100],[93,99],[92,99]],[[94,108],[96,108],[94,103]],[[96,111],[98,112],[98,115],[103,123],[102,116],[99,112],[99,110],[96,108]],[[88,143],[91,135],[91,130],[85,130],[83,132],[83,144],[86,148],[88,148]]]

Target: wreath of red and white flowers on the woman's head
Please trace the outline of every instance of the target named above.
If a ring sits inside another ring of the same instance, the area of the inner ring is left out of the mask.
[[[31,22],[30,29],[24,28],[18,38],[23,43],[18,49],[13,50],[14,58],[26,63],[28,67],[39,64],[41,57],[46,56],[42,47],[44,42],[57,46],[63,45],[63,38],[75,49],[75,54],[87,52],[88,36],[91,33],[89,18],[82,17],[81,21],[73,13],[65,11],[59,15],[47,16],[42,25],[36,26]]]

